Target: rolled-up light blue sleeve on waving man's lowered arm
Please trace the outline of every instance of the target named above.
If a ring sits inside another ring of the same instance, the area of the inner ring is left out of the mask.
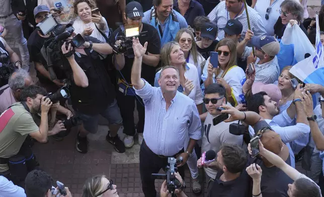
[[[199,113],[196,108],[196,106],[191,105],[191,117],[190,117],[190,123],[188,127],[188,134],[189,138],[194,140],[200,140],[201,139],[201,120],[199,118]]]

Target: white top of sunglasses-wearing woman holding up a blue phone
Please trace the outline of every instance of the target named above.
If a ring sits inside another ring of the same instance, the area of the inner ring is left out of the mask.
[[[203,81],[205,81],[208,76],[207,67],[208,67],[209,59],[210,57],[208,57],[203,69],[203,74],[201,75],[201,79]],[[218,74],[217,77],[220,77],[222,74],[223,74],[223,70],[221,70],[221,72]],[[215,74],[213,76],[215,77]],[[228,83],[230,88],[232,88],[232,97],[234,95],[233,99],[235,100],[235,103],[237,104],[245,103],[245,96],[242,90],[242,85],[246,81],[246,74],[244,70],[238,66],[232,66],[229,70],[227,70],[223,79],[226,81],[226,83]],[[215,82],[216,80],[214,78],[214,83]]]

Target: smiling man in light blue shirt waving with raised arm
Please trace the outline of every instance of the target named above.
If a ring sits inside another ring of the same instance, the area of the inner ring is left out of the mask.
[[[156,196],[152,173],[158,173],[168,164],[168,157],[183,157],[184,165],[194,146],[201,138],[201,122],[196,104],[188,96],[177,91],[180,85],[178,70],[165,66],[158,79],[160,87],[152,87],[141,79],[142,56],[147,42],[142,46],[133,39],[134,62],[131,82],[145,105],[144,140],[139,151],[139,170],[145,197]],[[190,138],[184,147],[185,138]],[[178,168],[184,177],[183,167]]]

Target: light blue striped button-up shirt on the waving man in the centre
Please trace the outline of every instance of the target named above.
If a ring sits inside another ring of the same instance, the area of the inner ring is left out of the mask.
[[[182,148],[187,149],[184,144],[188,135],[199,140],[201,121],[195,102],[177,91],[166,110],[167,103],[161,88],[144,82],[142,89],[134,89],[145,105],[143,137],[148,148],[157,155],[173,156]]]

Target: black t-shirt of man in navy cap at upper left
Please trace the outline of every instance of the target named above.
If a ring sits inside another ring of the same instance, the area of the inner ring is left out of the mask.
[[[43,38],[41,37],[38,33],[37,30],[34,30],[33,33],[30,35],[28,41],[27,41],[27,47],[29,50],[29,59],[30,61],[33,62],[39,62],[44,65],[45,69],[47,69],[47,62],[45,61],[44,57],[40,53],[44,43],[53,38],[53,36],[49,36],[48,38]],[[36,67],[35,67],[36,69]],[[56,74],[56,77],[58,79],[63,79],[65,78],[65,74],[63,70],[61,70],[58,67],[53,66],[54,72]],[[41,83],[46,83],[46,84],[54,84],[51,80],[49,80],[46,76],[42,75],[37,69],[36,69],[36,74]]]

